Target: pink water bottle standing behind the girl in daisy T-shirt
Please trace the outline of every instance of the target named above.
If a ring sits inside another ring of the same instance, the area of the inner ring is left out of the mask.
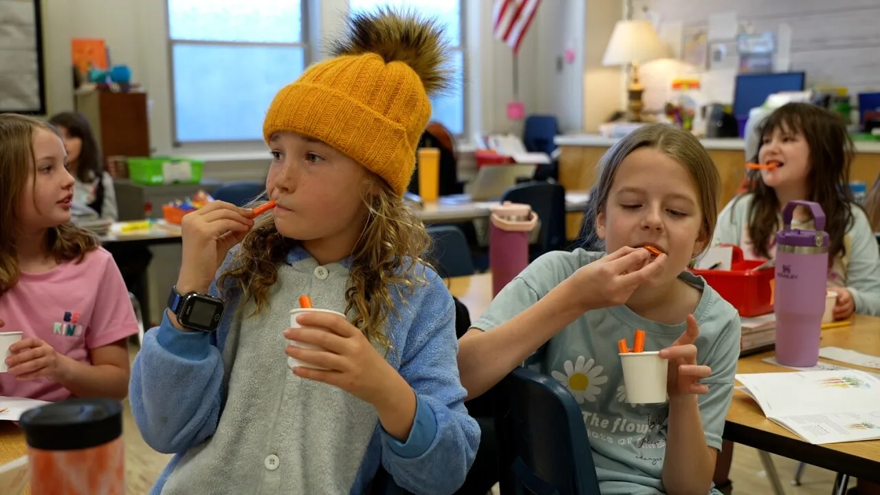
[[[528,204],[505,201],[492,207],[489,226],[489,269],[492,297],[529,266],[529,233],[538,215]]]

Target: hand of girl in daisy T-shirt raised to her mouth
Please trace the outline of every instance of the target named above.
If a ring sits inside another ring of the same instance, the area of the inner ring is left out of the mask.
[[[635,289],[663,270],[666,255],[651,261],[643,247],[620,247],[617,251],[578,269],[569,280],[584,310],[626,304]]]

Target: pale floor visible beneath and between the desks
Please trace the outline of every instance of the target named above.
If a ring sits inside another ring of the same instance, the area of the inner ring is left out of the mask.
[[[136,345],[132,346],[131,357],[134,358],[137,351]],[[125,404],[125,449],[126,470],[128,473],[128,494],[145,495],[150,492],[150,487],[158,478],[165,464],[171,459],[171,455],[159,454],[143,442],[137,431],[135,419],[131,416],[128,402]],[[788,459],[774,456],[776,470],[779,472],[783,484],[786,484],[788,495],[829,495],[834,483],[834,475],[825,469],[807,467],[803,471],[801,486],[790,486],[788,482],[794,477],[797,463]],[[737,446],[733,456],[733,469],[730,472],[733,480],[734,492],[742,495],[771,494],[770,484],[766,480],[764,469],[756,451],[749,447]]]

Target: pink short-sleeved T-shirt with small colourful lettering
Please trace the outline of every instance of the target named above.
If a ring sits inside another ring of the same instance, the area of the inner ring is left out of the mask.
[[[21,273],[0,296],[0,332],[24,332],[59,354],[91,364],[89,350],[137,333],[128,289],[113,256],[98,248],[83,262],[64,262],[46,273]],[[0,356],[5,359],[5,356]],[[16,380],[0,373],[0,395],[62,401],[70,391],[47,379]]]

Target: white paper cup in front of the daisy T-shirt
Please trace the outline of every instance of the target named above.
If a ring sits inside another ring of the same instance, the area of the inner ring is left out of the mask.
[[[668,360],[660,358],[659,351],[621,352],[619,355],[627,403],[665,403]]]

